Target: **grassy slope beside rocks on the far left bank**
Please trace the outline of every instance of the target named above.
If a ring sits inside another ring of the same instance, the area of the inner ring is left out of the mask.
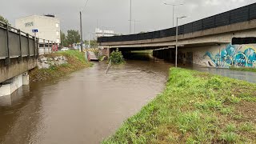
[[[66,74],[70,74],[75,70],[80,70],[90,66],[90,62],[86,62],[85,60],[84,53],[81,53],[78,50],[59,51],[58,53],[45,54],[44,56],[46,58],[65,56],[68,63],[60,66],[50,66],[49,69],[39,70],[38,68],[35,68],[34,70],[30,70],[30,82],[59,78]]]

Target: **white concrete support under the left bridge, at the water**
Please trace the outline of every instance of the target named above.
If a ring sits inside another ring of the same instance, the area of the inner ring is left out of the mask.
[[[18,90],[23,85],[29,85],[29,74],[28,72],[24,74],[19,74],[14,78],[10,78],[6,82],[0,84],[0,97],[10,95],[14,93],[15,90]]]

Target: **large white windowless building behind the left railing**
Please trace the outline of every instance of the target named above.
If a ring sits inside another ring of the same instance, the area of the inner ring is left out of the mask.
[[[54,15],[31,15],[15,20],[15,26],[28,34],[36,35],[40,38],[39,42],[43,42],[42,39],[50,42],[56,42],[58,45],[61,43],[60,34],[60,20],[55,18]],[[34,33],[32,30],[38,30]]]

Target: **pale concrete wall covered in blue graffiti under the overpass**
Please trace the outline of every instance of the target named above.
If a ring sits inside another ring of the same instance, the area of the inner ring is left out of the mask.
[[[256,68],[256,45],[221,44],[179,49],[179,55],[188,57],[193,53],[193,63],[207,67],[253,67]],[[179,58],[180,59],[180,58]]]

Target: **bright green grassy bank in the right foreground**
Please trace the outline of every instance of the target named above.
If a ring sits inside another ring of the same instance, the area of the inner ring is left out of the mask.
[[[256,85],[171,68],[166,90],[102,143],[256,143]]]

